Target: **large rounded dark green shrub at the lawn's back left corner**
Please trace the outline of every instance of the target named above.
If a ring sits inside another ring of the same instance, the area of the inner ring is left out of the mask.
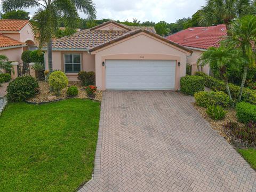
[[[7,86],[7,98],[9,101],[24,101],[34,97],[39,87],[34,77],[17,77]]]

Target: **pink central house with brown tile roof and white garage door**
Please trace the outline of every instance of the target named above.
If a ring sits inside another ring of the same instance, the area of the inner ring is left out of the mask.
[[[154,27],[108,21],[53,41],[53,69],[70,81],[79,71],[95,71],[99,90],[179,89],[193,53],[156,34]],[[46,50],[47,51],[47,50]],[[46,66],[47,54],[45,54]]]

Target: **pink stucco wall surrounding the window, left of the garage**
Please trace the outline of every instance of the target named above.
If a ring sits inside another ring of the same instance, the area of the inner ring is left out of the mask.
[[[88,54],[87,52],[78,52],[78,51],[53,51],[52,52],[52,68],[53,70],[64,70],[64,60],[63,54],[65,53],[80,53],[82,54],[81,57],[81,70],[82,71],[94,71],[95,72],[95,55]],[[47,59],[47,52],[45,53],[45,65],[46,70],[49,70],[48,67],[48,59]],[[66,74],[69,81],[78,81],[77,80],[77,73],[67,73]]]

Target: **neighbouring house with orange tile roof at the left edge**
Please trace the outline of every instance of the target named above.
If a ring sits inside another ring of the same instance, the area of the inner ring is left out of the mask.
[[[28,20],[0,20],[0,55],[21,62],[21,54],[37,49],[32,26]]]

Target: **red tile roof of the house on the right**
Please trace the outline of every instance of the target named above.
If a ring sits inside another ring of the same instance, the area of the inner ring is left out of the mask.
[[[209,47],[218,47],[221,39],[227,36],[227,28],[225,25],[211,27],[192,27],[166,38],[170,41],[187,47],[198,49],[208,49]]]

